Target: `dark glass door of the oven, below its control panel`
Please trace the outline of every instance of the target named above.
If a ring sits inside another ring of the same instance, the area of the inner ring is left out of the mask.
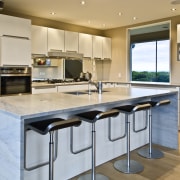
[[[31,76],[1,76],[1,95],[31,93]]]

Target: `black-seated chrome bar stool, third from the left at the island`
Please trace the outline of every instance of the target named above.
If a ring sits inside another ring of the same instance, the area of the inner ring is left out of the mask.
[[[143,104],[143,105],[124,105],[124,106],[119,106],[119,107],[113,108],[113,109],[119,110],[120,113],[124,113],[125,121],[126,121],[125,133],[127,136],[127,139],[126,139],[127,158],[123,159],[123,160],[118,160],[114,163],[114,167],[118,171],[121,171],[126,174],[133,174],[133,173],[138,173],[138,172],[141,172],[144,170],[144,167],[139,162],[130,159],[130,120],[129,120],[129,116],[131,114],[134,114],[137,111],[142,111],[142,110],[147,111],[150,107],[151,107],[151,105],[147,103],[147,104]],[[145,128],[143,128],[143,130],[144,129]]]

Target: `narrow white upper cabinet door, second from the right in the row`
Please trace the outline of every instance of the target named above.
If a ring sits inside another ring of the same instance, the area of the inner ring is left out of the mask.
[[[102,59],[102,43],[103,37],[93,36],[93,58]]]

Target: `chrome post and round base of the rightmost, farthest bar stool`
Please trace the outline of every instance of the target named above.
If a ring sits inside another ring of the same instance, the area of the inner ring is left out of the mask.
[[[148,159],[159,159],[164,157],[164,153],[152,148],[152,114],[149,110],[149,147],[138,150],[138,154]]]

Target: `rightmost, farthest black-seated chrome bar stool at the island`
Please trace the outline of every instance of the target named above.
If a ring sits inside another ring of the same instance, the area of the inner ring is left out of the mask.
[[[140,104],[149,103],[152,107],[163,106],[170,104],[170,100],[161,100],[161,101],[146,101]],[[138,154],[142,157],[148,159],[158,159],[164,157],[164,153],[158,149],[152,148],[152,113],[151,108],[149,109],[149,146],[147,148],[140,149]]]

